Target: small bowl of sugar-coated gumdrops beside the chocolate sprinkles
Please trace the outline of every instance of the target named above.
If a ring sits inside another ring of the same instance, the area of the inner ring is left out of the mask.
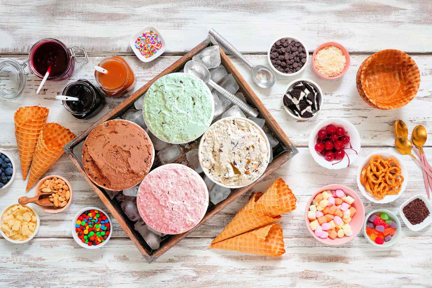
[[[389,247],[400,237],[400,221],[387,209],[376,209],[366,215],[363,233],[368,241],[378,247]]]

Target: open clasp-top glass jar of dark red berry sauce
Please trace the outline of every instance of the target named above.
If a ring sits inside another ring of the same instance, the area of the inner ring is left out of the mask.
[[[81,50],[78,56],[76,51]],[[36,42],[30,49],[29,68],[39,78],[44,78],[49,71],[47,80],[62,80],[69,77],[78,57],[89,60],[86,49],[78,47],[68,48],[63,42],[54,38],[45,38]]]

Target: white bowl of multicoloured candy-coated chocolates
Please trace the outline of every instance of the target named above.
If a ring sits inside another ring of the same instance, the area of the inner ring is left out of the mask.
[[[102,209],[83,208],[73,219],[72,235],[79,246],[97,249],[104,246],[111,238],[111,219]]]

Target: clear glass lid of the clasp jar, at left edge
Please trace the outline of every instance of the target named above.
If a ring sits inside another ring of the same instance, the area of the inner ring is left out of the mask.
[[[24,68],[27,63],[15,60],[0,62],[0,98],[14,100],[21,96],[27,84],[27,75]]]

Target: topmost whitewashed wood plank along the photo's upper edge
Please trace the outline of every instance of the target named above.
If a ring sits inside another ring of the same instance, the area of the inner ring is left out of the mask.
[[[431,24],[429,0],[3,1],[0,53],[28,53],[46,37],[89,52],[131,53],[130,36],[147,25],[160,29],[170,53],[190,50],[209,28],[245,52],[267,52],[286,35],[303,39],[309,51],[337,41],[356,52],[430,52]]]

